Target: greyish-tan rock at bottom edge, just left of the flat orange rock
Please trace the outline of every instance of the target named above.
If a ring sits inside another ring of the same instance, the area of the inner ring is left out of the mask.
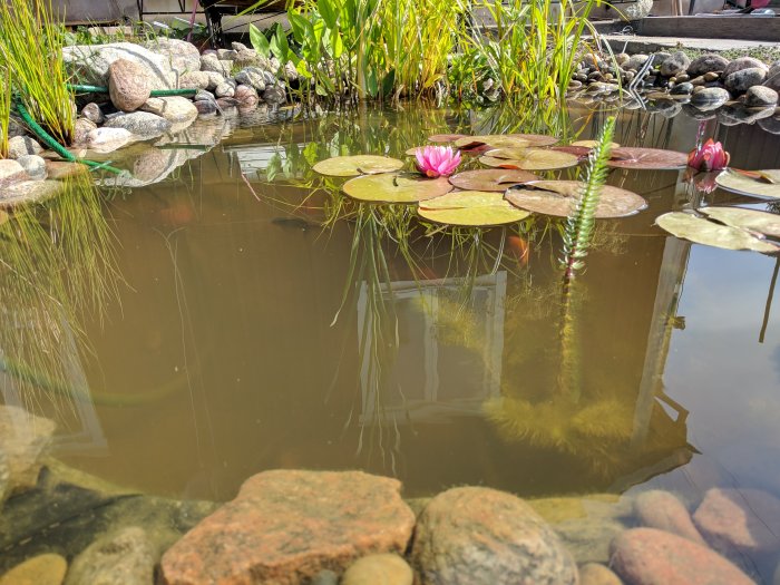
[[[129,526],[81,552],[70,565],[65,585],[153,585],[157,556],[146,532]]]

